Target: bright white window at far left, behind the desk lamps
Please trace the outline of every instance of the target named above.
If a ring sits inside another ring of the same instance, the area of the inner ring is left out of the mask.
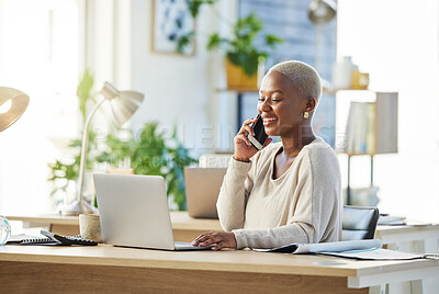
[[[50,206],[47,163],[77,136],[79,0],[0,0],[0,84],[31,98],[0,133],[0,211]]]

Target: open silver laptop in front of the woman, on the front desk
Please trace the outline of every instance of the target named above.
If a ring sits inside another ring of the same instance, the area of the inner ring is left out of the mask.
[[[175,242],[159,176],[94,173],[94,188],[104,244],[162,250],[206,250]]]

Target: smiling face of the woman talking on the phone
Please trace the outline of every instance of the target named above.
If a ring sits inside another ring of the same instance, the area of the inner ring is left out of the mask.
[[[306,101],[291,80],[271,70],[259,90],[258,112],[269,136],[286,136],[303,124]]]

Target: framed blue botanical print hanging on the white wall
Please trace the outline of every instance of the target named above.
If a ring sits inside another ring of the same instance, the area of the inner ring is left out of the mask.
[[[194,26],[187,0],[153,1],[153,52],[194,55],[193,42],[184,47],[183,53],[177,50],[179,37],[193,32]]]

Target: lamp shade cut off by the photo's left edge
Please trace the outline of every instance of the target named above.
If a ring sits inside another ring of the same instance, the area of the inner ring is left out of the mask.
[[[0,87],[0,108],[11,103],[5,112],[0,112],[0,132],[12,125],[26,110],[29,95],[16,89]]]

